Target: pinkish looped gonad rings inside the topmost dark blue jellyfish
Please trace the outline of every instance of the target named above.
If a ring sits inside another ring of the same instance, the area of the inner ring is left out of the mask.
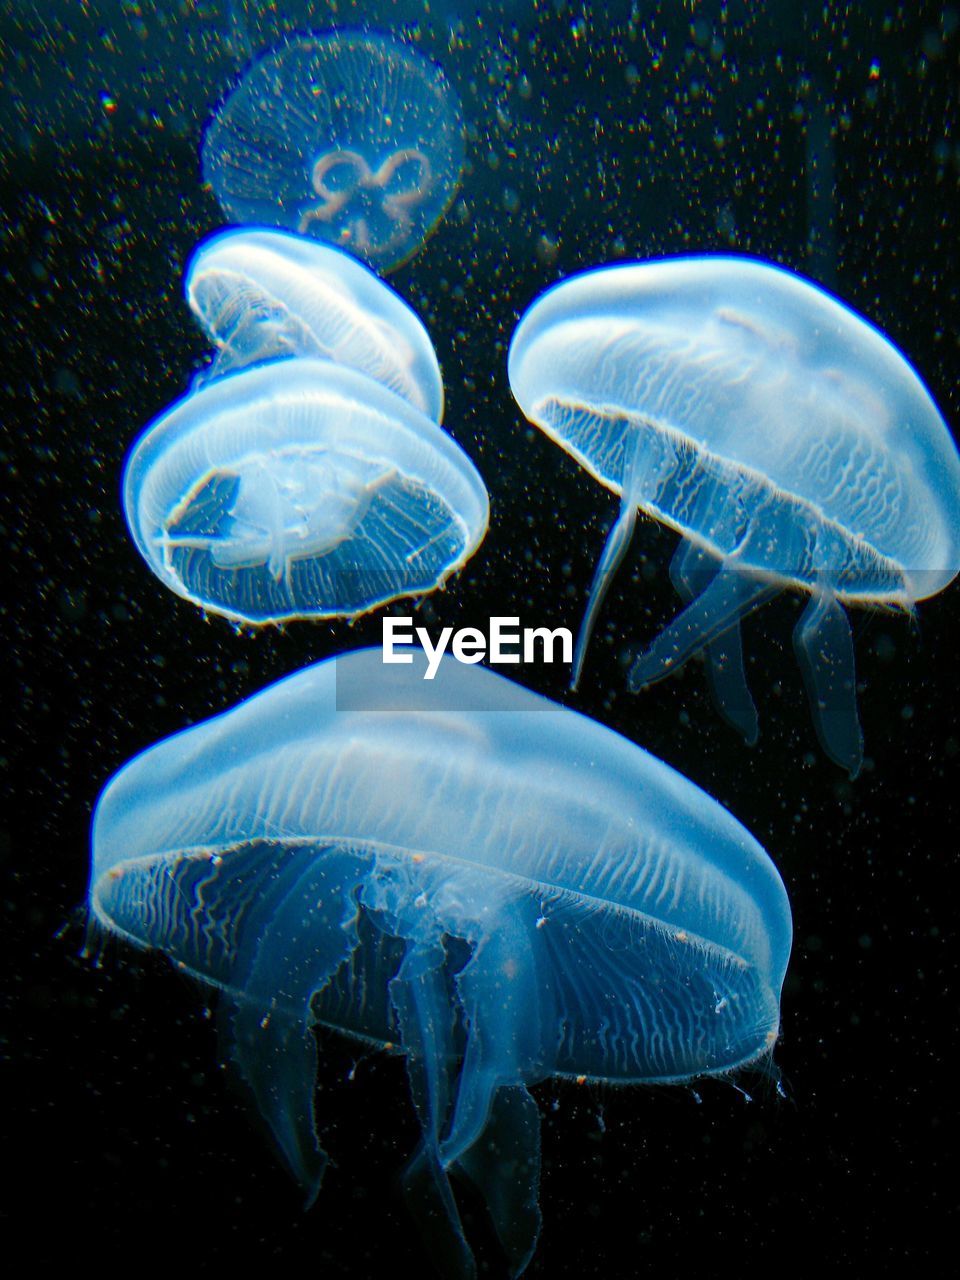
[[[312,223],[333,225],[337,243],[376,261],[408,237],[412,211],[433,189],[433,169],[419,147],[398,147],[376,169],[358,151],[337,148],[317,157],[310,180],[319,204],[302,214],[300,234]]]

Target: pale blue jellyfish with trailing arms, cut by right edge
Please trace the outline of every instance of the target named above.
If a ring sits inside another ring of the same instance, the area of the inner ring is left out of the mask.
[[[790,271],[736,257],[635,262],[549,289],[509,381],[525,415],[621,495],[573,684],[637,509],[676,529],[685,611],[634,662],[636,691],[705,650],[714,700],[758,736],[740,620],[809,595],[794,646],[826,753],[863,759],[844,604],[911,611],[960,567],[960,457],[893,344]]]

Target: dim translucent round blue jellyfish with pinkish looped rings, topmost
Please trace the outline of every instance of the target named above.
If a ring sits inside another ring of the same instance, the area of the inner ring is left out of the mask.
[[[463,123],[440,68],[388,36],[325,32],[264,54],[204,136],[204,178],[236,223],[283,227],[380,271],[449,207]]]

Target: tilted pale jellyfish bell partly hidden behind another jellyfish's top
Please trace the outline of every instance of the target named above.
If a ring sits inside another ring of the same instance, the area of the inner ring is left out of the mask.
[[[407,303],[356,259],[285,232],[242,227],[191,259],[187,301],[216,344],[202,381],[284,356],[369,374],[439,422],[433,343]]]

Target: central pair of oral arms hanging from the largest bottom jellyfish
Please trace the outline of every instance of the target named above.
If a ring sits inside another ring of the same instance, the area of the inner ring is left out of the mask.
[[[545,1074],[541,1037],[549,1001],[544,1006],[536,980],[535,904],[524,892],[515,896],[508,883],[502,893],[490,902],[477,867],[424,858],[411,877],[408,864],[387,851],[360,892],[374,919],[407,943],[390,982],[424,1130],[407,1183],[413,1190],[430,1174],[448,1224],[445,1253],[458,1260],[452,1271],[458,1276],[474,1271],[448,1181],[451,1166],[462,1169],[486,1201],[512,1275],[532,1256],[540,1226],[540,1125],[526,1084]],[[453,1048],[444,934],[462,937],[472,948],[453,978],[457,1018],[467,1036],[462,1065]]]

